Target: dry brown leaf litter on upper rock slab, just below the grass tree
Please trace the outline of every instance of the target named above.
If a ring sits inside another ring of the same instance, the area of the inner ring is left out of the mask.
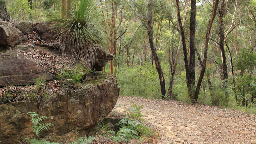
[[[49,68],[49,72],[55,74],[62,68],[70,68],[74,66],[74,59],[50,54],[36,49],[32,49],[29,52],[19,51],[23,53],[27,58],[35,60],[36,64],[44,69]]]

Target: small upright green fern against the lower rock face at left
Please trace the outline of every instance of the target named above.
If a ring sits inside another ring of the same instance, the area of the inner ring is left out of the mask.
[[[47,116],[39,116],[36,112],[28,112],[31,117],[31,122],[33,123],[32,130],[38,136],[40,132],[48,131],[50,127],[53,126],[51,123],[42,123],[49,119]]]

